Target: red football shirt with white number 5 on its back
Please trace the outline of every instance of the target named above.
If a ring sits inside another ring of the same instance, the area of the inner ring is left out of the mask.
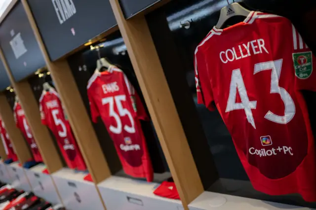
[[[42,92],[40,97],[40,115],[42,124],[48,126],[56,137],[57,144],[68,167],[71,169],[86,170],[70,124],[65,118],[58,93],[54,89]]]

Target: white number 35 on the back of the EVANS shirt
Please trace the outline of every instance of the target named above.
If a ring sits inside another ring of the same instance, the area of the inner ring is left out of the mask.
[[[125,95],[118,95],[115,97],[107,97],[102,99],[102,105],[109,104],[109,114],[111,117],[114,117],[117,127],[110,125],[109,129],[111,132],[115,134],[120,134],[122,132],[122,122],[120,120],[120,116],[123,117],[125,115],[128,116],[131,126],[124,125],[124,130],[130,134],[135,133],[135,123],[132,114],[122,106],[122,101],[126,101]],[[118,108],[118,113],[114,110],[114,102]]]

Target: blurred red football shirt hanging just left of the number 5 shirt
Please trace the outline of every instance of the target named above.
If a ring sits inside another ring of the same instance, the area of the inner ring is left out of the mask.
[[[25,118],[25,114],[24,114],[24,110],[22,109],[22,106],[16,102],[14,104],[13,111],[14,111],[14,119],[15,119],[16,126],[20,129],[24,138],[30,145],[34,160],[36,162],[43,162],[43,158],[41,157],[38,145],[36,144],[34,140],[30,126]]]

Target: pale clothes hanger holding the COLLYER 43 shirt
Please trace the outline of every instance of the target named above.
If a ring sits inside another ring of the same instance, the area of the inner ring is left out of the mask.
[[[222,28],[224,23],[231,17],[237,16],[237,15],[247,17],[249,13],[251,12],[250,10],[241,6],[239,3],[234,2],[230,4],[228,0],[227,0],[227,3],[228,5],[221,9],[219,20],[215,26],[216,29]]]

